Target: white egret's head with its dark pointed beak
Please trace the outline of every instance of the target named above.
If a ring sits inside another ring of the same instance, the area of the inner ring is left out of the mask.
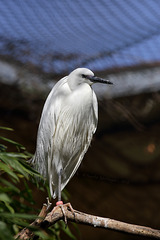
[[[76,88],[82,83],[92,85],[95,82],[112,84],[112,82],[110,82],[109,80],[95,77],[94,73],[88,68],[77,68],[68,75],[68,83],[71,89]]]

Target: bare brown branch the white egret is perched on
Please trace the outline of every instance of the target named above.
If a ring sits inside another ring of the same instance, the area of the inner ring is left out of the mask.
[[[63,211],[62,211],[63,210]],[[57,221],[64,219],[64,214],[67,221],[90,225],[93,227],[106,228],[110,230],[130,233],[134,235],[146,236],[150,238],[160,239],[160,230],[152,229],[149,227],[128,224],[110,218],[93,216],[90,214],[82,213],[77,210],[72,211],[68,204],[56,206],[46,216],[43,215],[44,220],[36,220],[31,225],[37,226],[41,229],[46,229],[55,224]],[[42,215],[41,215],[42,216]],[[34,233],[29,229],[23,229],[15,238],[17,239],[32,239]],[[32,237],[32,238],[31,238]]]

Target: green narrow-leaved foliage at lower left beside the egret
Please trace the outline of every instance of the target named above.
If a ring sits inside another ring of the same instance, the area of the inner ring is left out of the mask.
[[[10,128],[0,127],[0,129],[13,131]],[[36,184],[40,190],[44,190],[42,185],[37,182],[37,177],[42,177],[32,169],[27,160],[31,158],[24,146],[21,144],[0,136],[0,140],[6,144],[0,143],[0,239],[14,239],[22,228],[29,226],[39,213],[35,213],[35,201],[33,199],[32,189],[29,183]],[[9,152],[6,145],[14,145],[16,152]],[[42,179],[44,182],[44,179]],[[41,185],[41,187],[40,187]],[[49,189],[47,188],[48,193]],[[67,200],[67,194],[63,192],[63,198]],[[35,213],[36,215],[33,215]],[[61,230],[71,238],[75,236],[63,222],[56,223],[47,230],[47,233],[38,229],[33,229],[40,239],[60,239]]]

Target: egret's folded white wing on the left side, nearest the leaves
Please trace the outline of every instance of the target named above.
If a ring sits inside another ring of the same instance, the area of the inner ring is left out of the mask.
[[[67,77],[64,77],[58,81],[46,99],[38,128],[36,151],[31,159],[31,163],[34,165],[35,169],[45,178],[48,178],[48,167],[51,161],[52,136],[54,135],[56,127],[56,116],[60,109],[60,95],[65,95],[64,86],[66,80]],[[61,89],[61,91],[59,91],[59,89]]]

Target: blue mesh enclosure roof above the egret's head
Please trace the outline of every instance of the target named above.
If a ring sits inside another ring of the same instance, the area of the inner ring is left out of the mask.
[[[159,61],[160,1],[0,0],[0,51],[45,71]]]

